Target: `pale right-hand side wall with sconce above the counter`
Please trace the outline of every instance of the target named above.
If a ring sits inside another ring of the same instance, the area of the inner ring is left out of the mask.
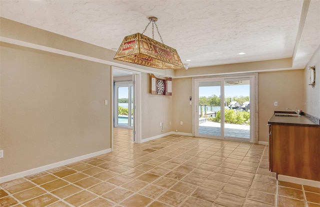
[[[312,88],[308,84],[310,83],[310,70],[309,66],[315,65],[315,86]],[[320,46],[316,49],[313,56],[306,64],[304,69],[304,97],[303,105],[305,112],[320,118]]]

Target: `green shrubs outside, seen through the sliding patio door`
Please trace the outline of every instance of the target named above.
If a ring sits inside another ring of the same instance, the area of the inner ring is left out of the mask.
[[[217,111],[214,118],[208,118],[207,120],[220,122],[220,117],[221,112]],[[227,124],[250,125],[250,112],[224,109],[224,122]]]

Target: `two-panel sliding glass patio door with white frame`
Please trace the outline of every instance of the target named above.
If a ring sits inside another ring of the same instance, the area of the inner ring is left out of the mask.
[[[194,78],[197,137],[253,142],[254,76]]]

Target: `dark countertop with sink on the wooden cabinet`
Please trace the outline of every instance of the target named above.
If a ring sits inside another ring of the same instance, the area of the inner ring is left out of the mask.
[[[275,116],[274,114],[268,120],[268,124],[320,127],[319,124],[308,119],[306,116],[290,117],[290,116]]]

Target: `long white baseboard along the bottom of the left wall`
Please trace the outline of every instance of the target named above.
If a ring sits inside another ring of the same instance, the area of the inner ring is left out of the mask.
[[[98,155],[102,155],[102,154],[105,154],[105,153],[109,153],[109,152],[111,152],[111,148],[106,149],[106,150],[101,150],[101,151],[98,151],[98,152],[94,152],[94,153],[90,153],[90,154],[87,154],[87,155],[82,155],[82,156],[79,156],[79,157],[76,157],[76,158],[63,160],[63,161],[60,161],[60,162],[57,162],[57,163],[52,163],[52,164],[49,164],[49,165],[41,166],[41,167],[38,167],[38,168],[33,168],[33,169],[22,171],[22,172],[19,172],[19,173],[14,173],[14,174],[11,174],[11,175],[8,175],[8,176],[3,176],[3,177],[0,177],[0,183],[4,183],[4,182],[11,181],[11,180],[14,180],[14,179],[18,179],[18,178],[22,178],[22,177],[25,177],[25,176],[33,175],[33,174],[36,174],[36,173],[40,173],[42,171],[50,170],[52,168],[61,167],[61,166],[64,166],[64,165],[68,165],[70,163],[78,162],[78,161],[81,161],[81,160],[85,160],[85,159],[92,158],[92,157],[95,157],[95,156],[98,156]]]

